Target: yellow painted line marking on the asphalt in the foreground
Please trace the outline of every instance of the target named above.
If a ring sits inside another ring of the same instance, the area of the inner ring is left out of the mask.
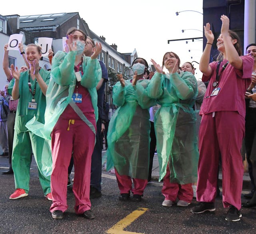
[[[148,208],[138,208],[137,210],[134,210],[132,213],[128,214],[125,218],[120,220],[118,223],[116,223],[114,226],[112,226],[110,229],[108,229],[108,234],[140,234],[138,232],[127,232],[124,231],[124,228],[129,226],[136,218],[144,214]]]

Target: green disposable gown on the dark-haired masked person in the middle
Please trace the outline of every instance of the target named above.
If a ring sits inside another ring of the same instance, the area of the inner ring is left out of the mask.
[[[115,167],[119,175],[148,179],[150,115],[156,100],[145,89],[149,80],[120,82],[113,88],[113,103],[119,106],[108,126],[107,170]]]

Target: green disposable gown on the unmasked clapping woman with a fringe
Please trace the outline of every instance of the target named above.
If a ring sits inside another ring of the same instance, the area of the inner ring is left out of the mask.
[[[192,108],[198,94],[196,78],[190,72],[182,75],[155,73],[147,91],[161,105],[154,122],[159,181],[164,178],[169,163],[170,182],[196,182],[199,153]]]

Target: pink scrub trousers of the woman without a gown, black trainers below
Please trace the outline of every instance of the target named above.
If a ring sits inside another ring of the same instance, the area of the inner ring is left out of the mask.
[[[244,167],[241,156],[245,120],[237,111],[216,111],[202,116],[196,197],[214,202],[219,158],[222,160],[223,206],[241,208]]]

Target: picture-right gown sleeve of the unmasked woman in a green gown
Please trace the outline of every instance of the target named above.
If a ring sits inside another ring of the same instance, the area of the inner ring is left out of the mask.
[[[182,100],[190,99],[195,95],[193,87],[197,84],[190,79],[192,76],[194,75],[190,72],[184,72],[182,77],[177,72],[170,74],[170,81],[176,88],[177,96]]]

